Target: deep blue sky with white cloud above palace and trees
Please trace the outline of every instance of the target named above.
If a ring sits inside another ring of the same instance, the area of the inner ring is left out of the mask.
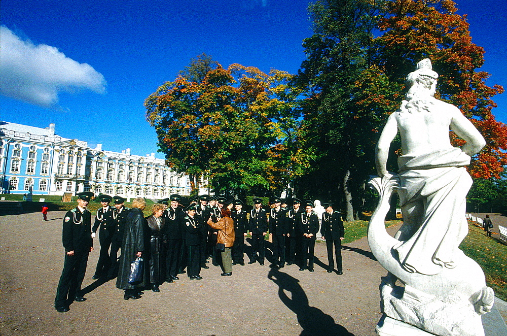
[[[302,41],[312,33],[308,3],[2,0],[1,41],[10,48],[0,51],[0,119],[55,123],[58,135],[91,147],[163,158],[144,98],[201,53],[225,67],[296,73],[305,58]],[[473,42],[486,50],[487,84],[507,89],[507,1],[456,3],[468,15]],[[494,100],[493,113],[507,123],[507,93]]]

